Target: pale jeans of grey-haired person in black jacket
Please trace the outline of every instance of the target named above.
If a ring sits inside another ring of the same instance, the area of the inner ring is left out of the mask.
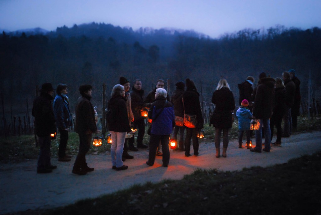
[[[113,141],[110,147],[111,163],[113,166],[123,166],[123,161],[121,158],[123,156],[126,133],[127,132],[110,131],[110,136]]]

